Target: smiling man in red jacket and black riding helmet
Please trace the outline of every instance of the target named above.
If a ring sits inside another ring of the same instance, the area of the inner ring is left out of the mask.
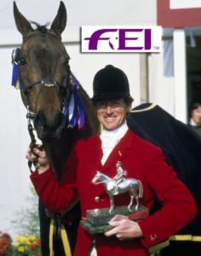
[[[103,126],[102,133],[75,145],[60,183],[55,180],[45,152],[34,148],[39,166],[31,175],[32,183],[49,211],[62,212],[79,198],[85,218],[89,209],[110,206],[104,187],[91,183],[96,171],[115,177],[116,165],[121,162],[127,177],[143,184],[142,204],[151,210],[158,198],[163,207],[140,222],[115,216],[109,222],[113,229],[102,235],[90,236],[80,226],[74,255],[87,256],[95,247],[98,256],[146,256],[148,247],[164,241],[194,218],[196,206],[186,186],[166,163],[162,150],[129,130],[125,119],[133,99],[125,73],[107,65],[95,74],[93,86],[92,101]],[[27,158],[36,160],[30,151]],[[128,202],[127,193],[115,196],[117,207]]]

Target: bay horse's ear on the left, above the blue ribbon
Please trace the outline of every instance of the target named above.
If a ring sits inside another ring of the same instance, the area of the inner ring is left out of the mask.
[[[20,14],[17,4],[14,2],[14,20],[17,26],[18,31],[22,34],[23,37],[27,35],[28,32],[31,32],[32,26],[26,18]]]

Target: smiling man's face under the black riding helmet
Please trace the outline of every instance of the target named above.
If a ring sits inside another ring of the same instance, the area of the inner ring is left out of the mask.
[[[130,110],[130,105],[126,104],[123,100],[115,100],[96,102],[95,108],[97,109],[100,123],[106,130],[112,131],[123,124],[126,113]]]

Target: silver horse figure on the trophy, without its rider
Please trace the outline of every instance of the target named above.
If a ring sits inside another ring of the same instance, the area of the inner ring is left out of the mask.
[[[110,198],[110,213],[112,213],[115,207],[113,195],[119,195],[125,192],[129,192],[130,195],[130,201],[128,206],[129,211],[131,211],[131,207],[133,206],[134,198],[136,200],[135,210],[138,210],[139,198],[143,197],[143,188],[140,180],[135,178],[123,178],[120,183],[116,184],[116,181],[113,178],[106,176],[106,174],[102,172],[96,172],[92,183],[103,183],[103,185],[105,186],[106,193],[107,195],[109,195]]]

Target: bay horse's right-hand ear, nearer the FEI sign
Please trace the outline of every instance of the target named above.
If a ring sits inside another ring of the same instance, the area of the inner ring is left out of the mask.
[[[66,7],[65,4],[60,1],[60,8],[58,9],[57,15],[55,16],[55,20],[52,22],[51,29],[57,34],[61,35],[61,33],[65,30],[67,21]]]

